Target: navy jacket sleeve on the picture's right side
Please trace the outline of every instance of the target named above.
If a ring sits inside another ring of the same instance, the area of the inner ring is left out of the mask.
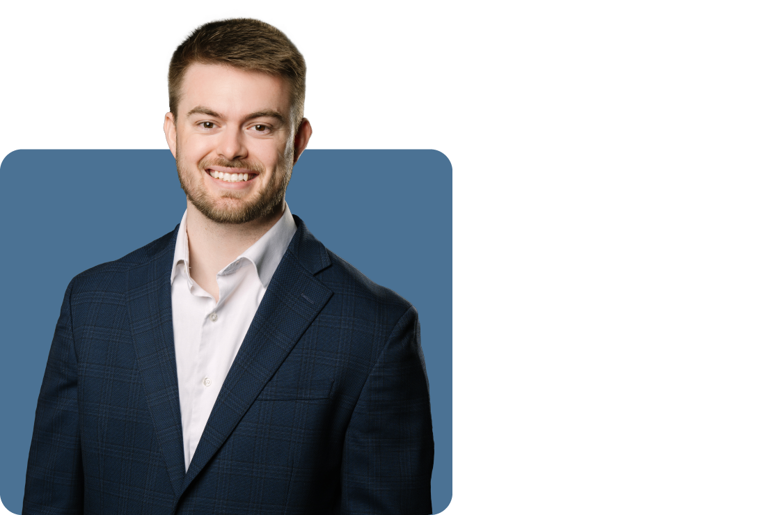
[[[341,513],[432,513],[433,424],[410,307],[399,319],[354,407],[341,463]]]

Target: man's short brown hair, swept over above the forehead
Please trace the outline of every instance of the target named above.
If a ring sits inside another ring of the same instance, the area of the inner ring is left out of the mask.
[[[237,9],[204,16],[166,54],[164,80],[170,112],[177,119],[183,76],[191,64],[227,64],[285,77],[291,91],[290,117],[297,129],[307,100],[306,56],[287,27],[273,19],[266,21]]]

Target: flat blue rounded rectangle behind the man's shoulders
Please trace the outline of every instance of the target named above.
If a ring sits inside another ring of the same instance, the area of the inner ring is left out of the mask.
[[[15,150],[0,173],[0,500],[21,513],[35,407],[67,283],[170,232],[186,204],[166,149]],[[420,314],[440,513],[451,502],[451,163],[437,150],[307,149],[286,199],[331,252]]]

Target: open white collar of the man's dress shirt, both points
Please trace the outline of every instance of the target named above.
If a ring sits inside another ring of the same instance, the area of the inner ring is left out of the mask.
[[[177,241],[175,242],[175,254],[172,260],[172,273],[170,274],[170,283],[173,283],[177,273],[183,273],[189,282],[189,286],[193,284],[193,280],[190,277],[190,263],[188,260],[188,233],[187,233],[187,221],[188,210],[183,213],[183,219],[180,220],[180,228],[177,230]],[[259,240],[242,252],[237,259],[231,262],[223,270],[218,272],[218,275],[231,273],[241,268],[241,266],[233,266],[235,263],[242,259],[247,259],[255,266],[255,271],[258,273],[258,279],[261,281],[264,287],[269,287],[269,281],[272,280],[274,272],[279,266],[279,262],[282,261],[285,251],[290,245],[290,240],[293,239],[293,235],[296,234],[296,221],[293,220],[293,215],[290,213],[288,204],[285,204],[285,211],[282,218],[272,225]],[[183,266],[178,266],[180,263]]]

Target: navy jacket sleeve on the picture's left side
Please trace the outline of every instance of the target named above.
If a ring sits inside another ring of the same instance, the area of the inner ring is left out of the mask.
[[[22,515],[83,513],[77,358],[67,287],[35,411]]]

